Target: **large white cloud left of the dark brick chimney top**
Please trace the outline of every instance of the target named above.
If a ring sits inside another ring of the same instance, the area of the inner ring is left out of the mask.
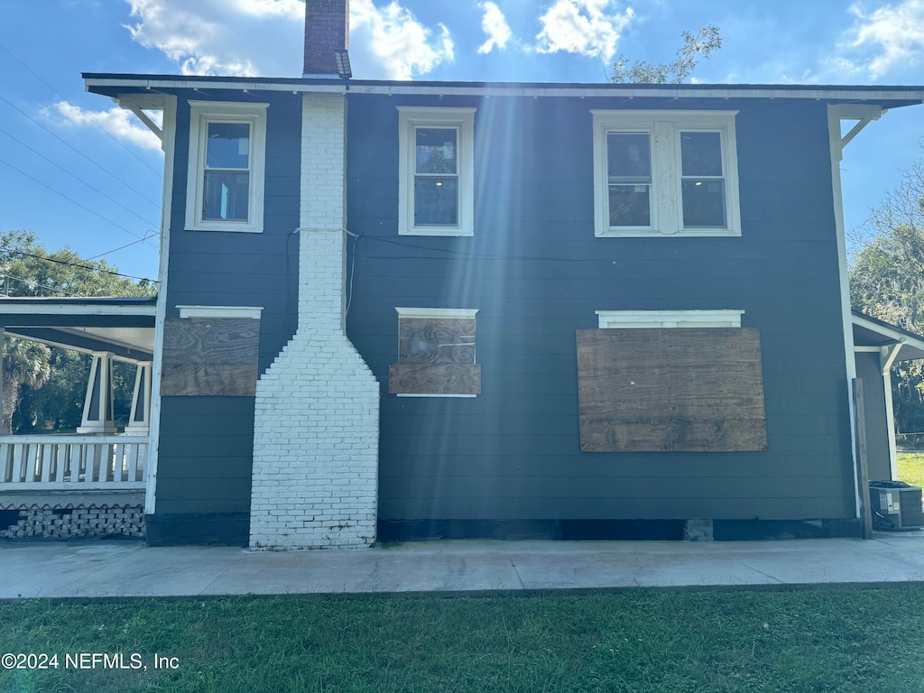
[[[298,0],[126,0],[132,39],[184,75],[301,74],[305,5]]]

